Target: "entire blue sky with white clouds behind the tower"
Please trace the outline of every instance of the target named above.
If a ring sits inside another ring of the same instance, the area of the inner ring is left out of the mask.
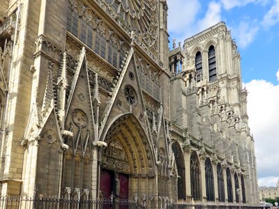
[[[279,0],[167,0],[169,40],[224,21],[241,54],[259,185],[279,178]]]

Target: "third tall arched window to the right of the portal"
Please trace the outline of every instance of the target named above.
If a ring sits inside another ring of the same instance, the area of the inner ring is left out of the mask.
[[[214,201],[214,178],[212,164],[209,158],[205,161],[205,184],[206,184],[206,199],[207,201]]]

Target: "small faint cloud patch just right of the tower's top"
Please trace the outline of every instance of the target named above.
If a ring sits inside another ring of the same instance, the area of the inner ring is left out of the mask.
[[[255,40],[255,36],[259,31],[259,26],[256,25],[256,21],[250,22],[249,20],[243,20],[232,29],[232,35],[236,38],[237,45],[245,49],[250,43]]]

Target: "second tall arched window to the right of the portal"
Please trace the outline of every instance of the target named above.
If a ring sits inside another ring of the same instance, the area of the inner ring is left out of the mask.
[[[200,200],[201,188],[200,188],[200,169],[197,153],[192,153],[190,157],[190,180],[191,180],[191,194],[194,200]]]

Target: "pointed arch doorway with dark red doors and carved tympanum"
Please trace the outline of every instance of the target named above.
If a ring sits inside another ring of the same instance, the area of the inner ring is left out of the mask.
[[[107,147],[100,153],[100,196],[133,199],[135,195],[155,192],[149,191],[153,183],[149,178],[155,173],[153,151],[137,118],[133,114],[116,118],[104,141]]]

